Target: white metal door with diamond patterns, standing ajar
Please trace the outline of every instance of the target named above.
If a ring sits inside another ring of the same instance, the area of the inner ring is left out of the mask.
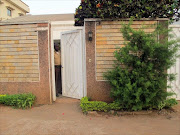
[[[61,35],[62,95],[81,99],[85,93],[85,47],[83,30]]]

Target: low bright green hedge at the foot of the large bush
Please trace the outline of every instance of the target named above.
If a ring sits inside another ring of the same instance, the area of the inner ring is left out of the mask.
[[[107,112],[109,110],[120,110],[119,104],[117,103],[106,103],[102,101],[89,101],[88,97],[83,97],[81,99],[80,107],[82,111],[85,113],[87,111],[104,111]]]

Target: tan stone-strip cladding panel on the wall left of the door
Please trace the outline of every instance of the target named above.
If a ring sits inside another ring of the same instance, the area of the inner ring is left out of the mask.
[[[0,82],[39,81],[37,24],[0,26]]]

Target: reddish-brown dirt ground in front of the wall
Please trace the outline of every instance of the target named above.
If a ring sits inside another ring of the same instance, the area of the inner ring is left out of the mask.
[[[158,115],[86,116],[79,100],[59,98],[28,110],[0,106],[0,135],[180,135],[176,112]]]

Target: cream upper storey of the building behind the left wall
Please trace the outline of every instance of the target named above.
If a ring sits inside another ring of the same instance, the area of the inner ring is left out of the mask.
[[[7,8],[12,9],[12,16],[7,15]],[[29,13],[29,7],[20,0],[0,0],[0,21],[19,17]]]

